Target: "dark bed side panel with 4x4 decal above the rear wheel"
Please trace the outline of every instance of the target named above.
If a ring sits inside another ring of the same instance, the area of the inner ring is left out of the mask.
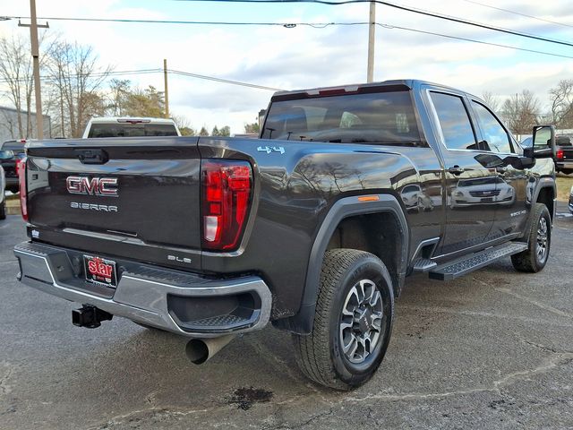
[[[405,209],[415,244],[419,236],[435,235],[443,222],[440,164],[431,148],[400,147],[404,156],[381,145],[201,138],[199,150],[201,158],[247,159],[255,178],[240,251],[203,253],[201,267],[213,273],[256,271],[273,290],[274,318],[297,312],[313,242],[339,199],[392,193],[401,202],[401,190],[415,184],[432,197],[426,211]]]

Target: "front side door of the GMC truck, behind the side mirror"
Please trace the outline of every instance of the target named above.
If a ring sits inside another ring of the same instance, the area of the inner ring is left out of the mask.
[[[495,195],[495,221],[491,236],[508,236],[521,231],[527,219],[526,188],[528,172],[519,166],[516,159],[517,144],[511,134],[501,124],[492,111],[479,100],[472,99],[471,107],[475,114],[484,149],[492,154],[492,168],[497,175]]]

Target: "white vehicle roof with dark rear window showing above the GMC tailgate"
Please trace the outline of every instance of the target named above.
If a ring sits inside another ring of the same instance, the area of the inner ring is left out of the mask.
[[[144,117],[91,118],[83,132],[83,139],[90,137],[158,137],[180,136],[173,119]]]

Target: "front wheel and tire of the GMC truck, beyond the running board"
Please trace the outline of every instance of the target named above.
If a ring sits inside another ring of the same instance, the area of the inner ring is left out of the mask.
[[[546,229],[543,238],[543,225]],[[511,255],[511,262],[517,271],[536,273],[543,270],[552,244],[552,218],[543,203],[535,203],[531,213],[531,225],[527,232],[527,249],[519,254]],[[543,250],[543,243],[544,250]]]

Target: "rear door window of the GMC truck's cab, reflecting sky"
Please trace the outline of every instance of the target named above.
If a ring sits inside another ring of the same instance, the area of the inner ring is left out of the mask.
[[[430,97],[440,121],[444,143],[449,150],[477,150],[474,129],[461,97],[431,92]]]

